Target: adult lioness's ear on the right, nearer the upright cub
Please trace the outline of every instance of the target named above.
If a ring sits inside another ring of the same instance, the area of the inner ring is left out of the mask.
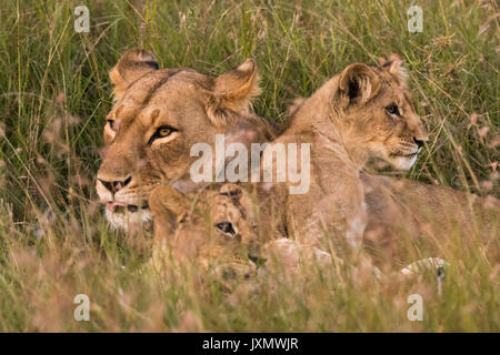
[[[257,65],[249,59],[237,69],[216,78],[213,99],[208,106],[210,119],[216,125],[221,125],[226,123],[226,111],[248,112],[251,99],[260,92]]]

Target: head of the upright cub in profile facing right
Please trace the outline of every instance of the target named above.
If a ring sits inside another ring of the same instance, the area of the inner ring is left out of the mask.
[[[354,63],[333,79],[333,121],[347,144],[364,159],[377,156],[410,169],[428,134],[413,110],[400,60],[380,68]]]

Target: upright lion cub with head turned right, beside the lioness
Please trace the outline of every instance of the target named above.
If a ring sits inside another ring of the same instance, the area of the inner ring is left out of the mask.
[[[258,191],[268,209],[264,215],[318,245],[324,244],[324,234],[361,245],[368,223],[361,169],[371,155],[409,169],[428,140],[401,77],[399,62],[383,68],[354,63],[304,100],[267,150],[309,143],[310,189],[289,194],[291,181],[262,184]],[[271,166],[277,166],[276,159]]]

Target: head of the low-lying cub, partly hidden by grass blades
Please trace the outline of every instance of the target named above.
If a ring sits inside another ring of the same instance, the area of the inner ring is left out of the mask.
[[[224,275],[244,276],[254,270],[259,252],[256,215],[250,195],[240,186],[203,189],[188,199],[169,186],[150,196],[154,239],[169,241],[176,260],[197,261]]]

